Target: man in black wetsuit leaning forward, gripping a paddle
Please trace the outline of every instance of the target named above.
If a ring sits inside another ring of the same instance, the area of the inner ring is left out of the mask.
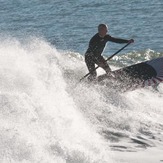
[[[108,35],[107,32],[108,32],[107,25],[100,24],[98,26],[98,33],[95,34],[89,42],[89,47],[85,54],[85,62],[90,72],[90,76],[88,77],[89,80],[93,80],[97,76],[97,73],[95,70],[95,64],[102,67],[106,71],[106,73],[109,73],[111,71],[109,65],[107,64],[103,56],[101,56],[106,46],[106,43],[108,41],[115,42],[115,43],[134,42],[133,39],[124,40],[124,39],[114,38]]]

